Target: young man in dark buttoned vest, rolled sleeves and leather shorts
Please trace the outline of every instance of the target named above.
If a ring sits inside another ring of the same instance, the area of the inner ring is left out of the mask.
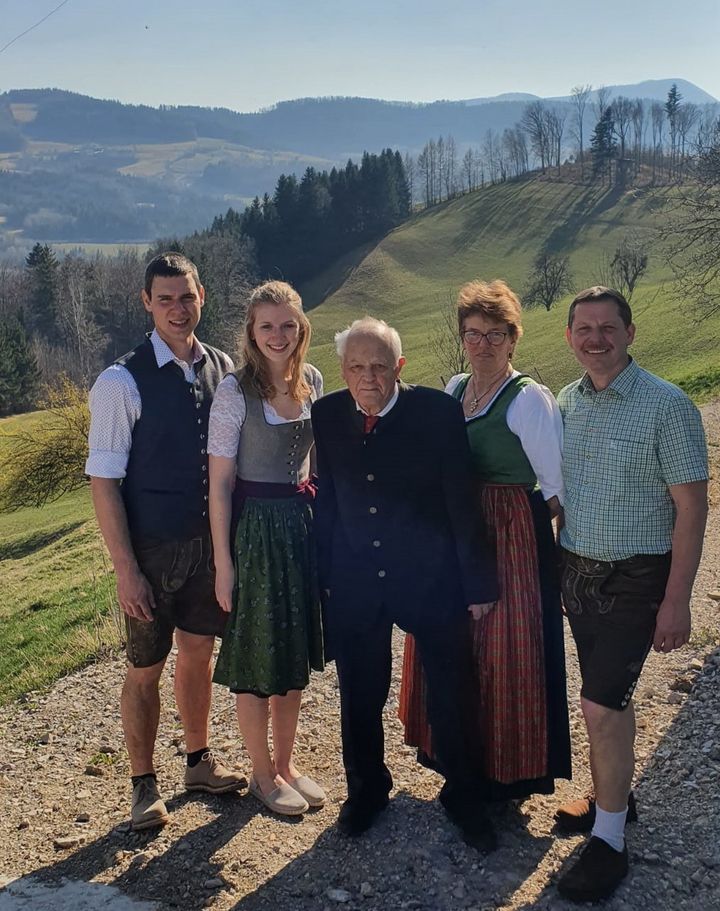
[[[208,417],[232,369],[195,337],[205,292],[180,253],[149,262],[141,294],[155,328],[98,376],[90,392],[90,476],[100,531],[125,612],[129,666],[120,701],[132,773],[134,829],[168,822],[153,767],[159,679],[178,645],[175,698],[188,791],[225,793],[245,778],[208,747],[211,659],[225,614],[215,599],[208,519]]]

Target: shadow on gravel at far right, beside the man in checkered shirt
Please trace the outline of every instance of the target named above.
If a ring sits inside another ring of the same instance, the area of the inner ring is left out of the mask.
[[[641,678],[635,693],[637,749],[650,758],[635,779],[638,823],[625,830],[630,874],[613,896],[613,911],[720,908],[720,649],[689,660],[669,690],[655,692]],[[653,718],[667,702],[681,708],[656,741]],[[572,838],[567,842],[561,870],[516,911],[577,907],[554,886],[575,859]]]

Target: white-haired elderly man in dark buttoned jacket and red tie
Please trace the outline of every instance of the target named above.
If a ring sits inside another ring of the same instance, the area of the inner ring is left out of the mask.
[[[415,636],[426,671],[446,776],[440,801],[468,844],[491,850],[459,678],[467,611],[485,609],[497,589],[468,496],[462,409],[446,394],[399,381],[405,358],[385,322],[356,321],[335,341],[347,389],[314,404],[313,428],[324,630],[340,681],[348,791],[338,826],[360,834],[388,803],[382,712],[396,623]]]

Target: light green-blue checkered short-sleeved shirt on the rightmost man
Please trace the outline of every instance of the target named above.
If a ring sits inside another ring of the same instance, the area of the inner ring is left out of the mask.
[[[708,476],[700,413],[684,392],[631,362],[597,392],[585,374],[558,395],[565,443],[563,548],[598,560],[663,554],[668,490]]]

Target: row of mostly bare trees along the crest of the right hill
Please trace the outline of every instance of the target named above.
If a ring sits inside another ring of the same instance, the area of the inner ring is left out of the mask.
[[[413,202],[426,208],[534,170],[562,177],[564,168],[581,181],[621,187],[641,172],[652,184],[677,182],[711,141],[716,119],[712,106],[685,103],[675,84],[664,103],[611,101],[606,87],[593,95],[591,85],[576,86],[570,103],[532,101],[513,127],[489,129],[478,147],[462,152],[451,135],[429,139],[417,158],[406,155],[406,175]]]

